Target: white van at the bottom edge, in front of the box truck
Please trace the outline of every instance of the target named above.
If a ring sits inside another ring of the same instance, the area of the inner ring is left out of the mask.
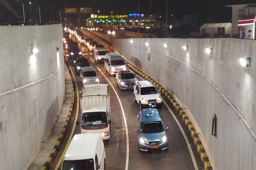
[[[74,135],[63,158],[61,169],[106,169],[106,153],[100,133]]]

